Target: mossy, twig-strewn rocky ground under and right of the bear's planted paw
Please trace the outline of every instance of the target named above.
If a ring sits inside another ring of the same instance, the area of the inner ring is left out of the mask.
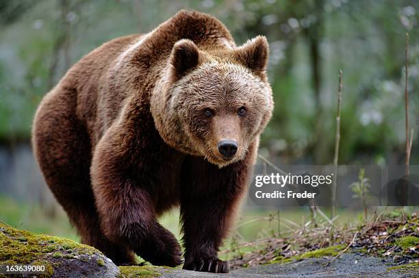
[[[231,253],[228,275],[155,266],[120,269],[125,277],[419,277],[416,214],[374,214],[355,227],[294,226],[254,242],[233,242],[223,251]]]

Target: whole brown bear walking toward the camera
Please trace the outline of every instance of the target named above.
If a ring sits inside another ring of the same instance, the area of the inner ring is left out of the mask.
[[[272,114],[268,42],[178,12],[105,43],[40,103],[34,153],[81,241],[116,264],[181,264],[157,217],[180,205],[188,270],[226,273],[227,235]]]

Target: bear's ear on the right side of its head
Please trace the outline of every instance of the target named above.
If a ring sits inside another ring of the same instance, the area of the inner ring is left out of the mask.
[[[249,68],[255,75],[266,79],[266,67],[268,66],[269,45],[264,36],[257,36],[239,47],[236,59],[240,64]]]

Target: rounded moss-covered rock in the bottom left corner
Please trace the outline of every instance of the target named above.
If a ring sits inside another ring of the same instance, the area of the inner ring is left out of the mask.
[[[93,247],[57,236],[21,231],[1,223],[0,264],[45,265],[46,273],[37,277],[119,275],[118,267]]]

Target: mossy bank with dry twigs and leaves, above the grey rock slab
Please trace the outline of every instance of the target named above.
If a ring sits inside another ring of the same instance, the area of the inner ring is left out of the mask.
[[[375,214],[355,226],[309,223],[282,234],[272,232],[253,242],[236,242],[224,252],[232,253],[229,260],[232,269],[324,256],[331,257],[333,262],[346,252],[408,264],[419,262],[419,218],[416,213],[394,211]]]

